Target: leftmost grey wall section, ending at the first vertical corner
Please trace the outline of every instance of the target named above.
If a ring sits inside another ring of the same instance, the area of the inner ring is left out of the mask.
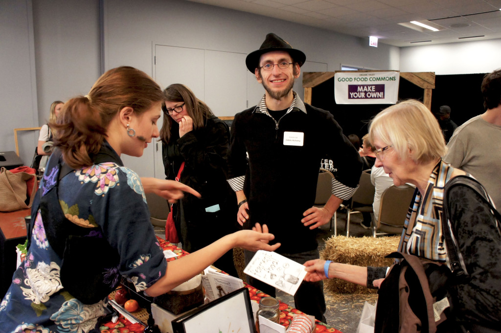
[[[30,0],[0,2],[0,151],[15,151],[14,129],[38,127]],[[38,133],[20,132],[20,156],[31,163]]]

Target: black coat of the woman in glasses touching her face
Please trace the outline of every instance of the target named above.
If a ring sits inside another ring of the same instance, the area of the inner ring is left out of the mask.
[[[236,197],[226,181],[228,142],[228,125],[212,117],[203,128],[182,138],[173,123],[170,142],[162,144],[166,179],[175,179],[184,161],[180,182],[202,195],[197,198],[185,193],[173,207],[177,233],[188,252],[237,230]]]

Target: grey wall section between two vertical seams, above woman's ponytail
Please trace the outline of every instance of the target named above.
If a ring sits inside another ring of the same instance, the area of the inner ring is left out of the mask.
[[[87,94],[101,74],[99,1],[36,0],[33,21],[43,125],[52,102]]]

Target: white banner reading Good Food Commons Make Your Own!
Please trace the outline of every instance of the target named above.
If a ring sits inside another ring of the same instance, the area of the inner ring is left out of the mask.
[[[336,104],[395,104],[399,72],[361,72],[334,75]]]

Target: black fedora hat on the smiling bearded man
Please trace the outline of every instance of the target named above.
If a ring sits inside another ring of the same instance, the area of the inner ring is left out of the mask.
[[[272,51],[288,52],[294,62],[299,64],[299,67],[303,66],[306,60],[306,55],[303,52],[293,49],[292,46],[282,38],[270,33],[266,35],[266,39],[263,44],[261,44],[259,50],[249,53],[247,58],[245,58],[245,65],[250,73],[254,73],[254,70],[258,67],[261,56]]]

